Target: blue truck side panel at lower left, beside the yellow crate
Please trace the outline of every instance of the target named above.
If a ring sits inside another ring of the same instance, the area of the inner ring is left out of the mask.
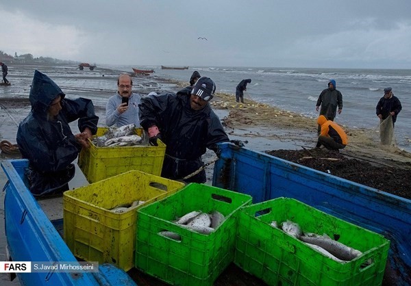
[[[23,182],[28,161],[9,160],[1,166],[9,179],[5,187],[5,234],[12,259],[78,263]],[[95,275],[90,272],[19,273],[18,279],[22,285],[136,285],[123,270],[110,268],[110,273],[107,267],[99,270]]]

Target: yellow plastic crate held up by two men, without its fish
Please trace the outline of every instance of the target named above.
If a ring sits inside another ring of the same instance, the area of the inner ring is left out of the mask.
[[[104,135],[108,128],[99,127],[95,136]],[[136,128],[141,135],[142,129]],[[160,140],[158,146],[114,146],[82,148],[78,165],[89,183],[107,179],[129,170],[139,170],[160,176],[166,145]]]

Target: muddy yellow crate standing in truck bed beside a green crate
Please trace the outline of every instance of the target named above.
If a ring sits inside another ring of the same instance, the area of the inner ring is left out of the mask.
[[[76,257],[134,266],[136,210],[184,183],[137,170],[64,192],[64,240]]]

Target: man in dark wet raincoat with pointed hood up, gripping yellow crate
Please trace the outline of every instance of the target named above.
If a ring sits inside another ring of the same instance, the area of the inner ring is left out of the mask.
[[[32,111],[20,123],[18,148],[29,159],[26,174],[34,196],[58,194],[69,190],[74,177],[71,164],[88,138],[97,132],[99,118],[89,99],[65,99],[65,94],[47,75],[34,71],[30,103]],[[82,133],[73,135],[69,122],[78,119]]]

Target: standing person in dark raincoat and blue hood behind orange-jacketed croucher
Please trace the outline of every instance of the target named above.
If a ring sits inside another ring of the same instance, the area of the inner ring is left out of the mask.
[[[336,90],[335,79],[330,79],[328,82],[328,88],[325,88],[319,96],[316,103],[316,111],[319,111],[321,106],[320,115],[325,116],[327,120],[334,121],[336,118],[336,110],[338,107],[338,114],[343,111],[343,94]],[[318,132],[320,133],[321,127],[319,126]]]

